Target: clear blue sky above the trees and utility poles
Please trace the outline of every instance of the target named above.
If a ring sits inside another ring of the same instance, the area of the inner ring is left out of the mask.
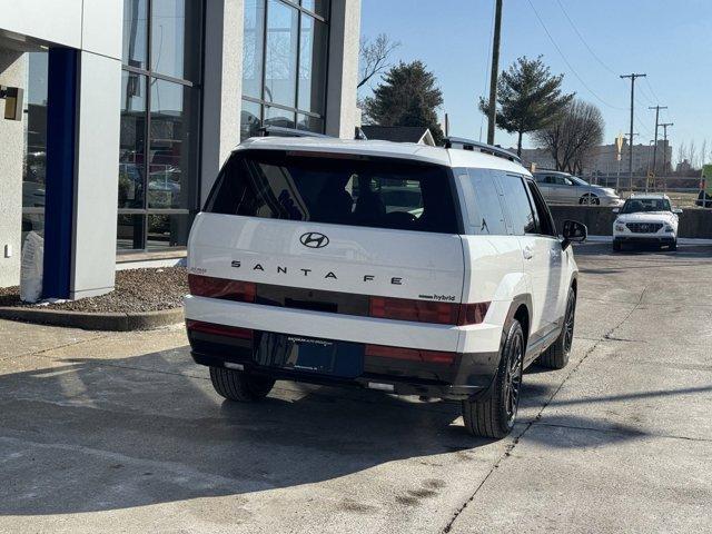
[[[362,10],[363,37],[388,34],[400,42],[394,61],[419,59],[435,73],[451,135],[479,139],[482,131],[485,140],[477,100],[488,92],[494,0],[362,0]],[[635,82],[635,142],[654,138],[647,107],[660,105],[669,108],[660,122],[674,122],[673,154],[692,140],[712,149],[711,52],[712,0],[504,0],[500,71],[542,55],[564,75],[566,92],[601,109],[606,144],[630,131],[631,85],[619,75],[644,72]],[[497,130],[495,142],[515,138]]]

